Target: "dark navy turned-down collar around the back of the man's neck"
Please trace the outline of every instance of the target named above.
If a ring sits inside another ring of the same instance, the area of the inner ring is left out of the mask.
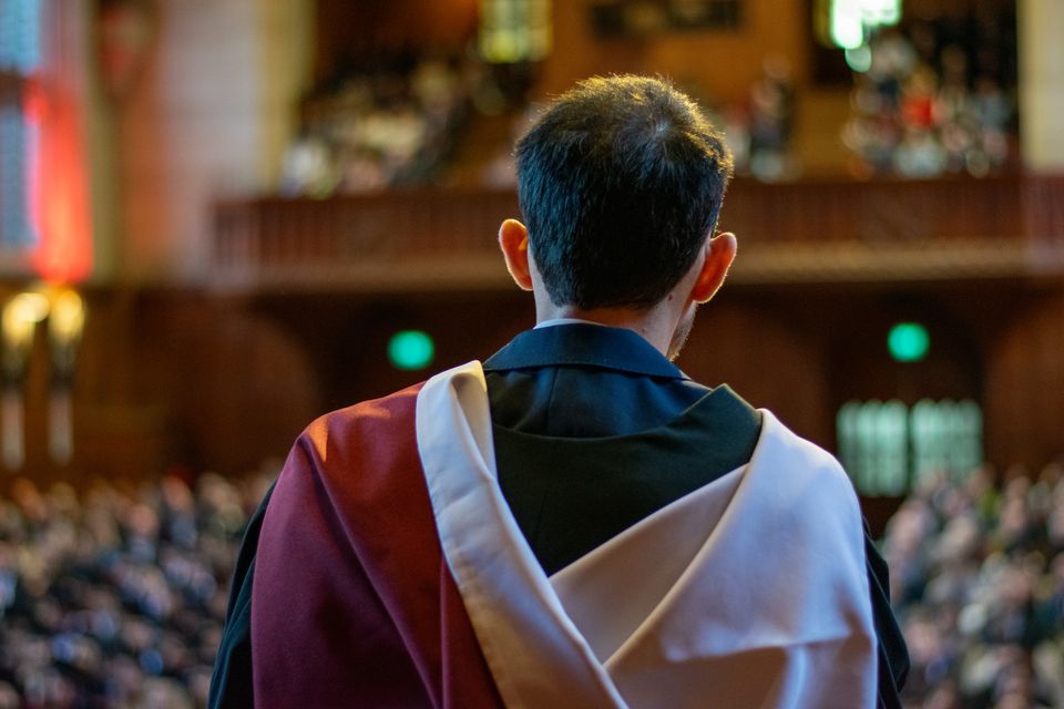
[[[525,330],[484,362],[488,371],[559,366],[601,367],[648,377],[687,379],[632,330],[580,322]]]

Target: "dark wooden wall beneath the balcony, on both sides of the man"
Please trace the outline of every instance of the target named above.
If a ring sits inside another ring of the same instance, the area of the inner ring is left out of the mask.
[[[485,358],[533,323],[531,299],[516,289],[263,298],[108,290],[89,302],[72,466],[49,467],[33,403],[47,378],[29,386],[30,460],[45,476],[144,476],[172,464],[241,473],[283,456],[316,415]],[[931,353],[900,364],[886,335],[911,319],[930,329]],[[388,338],[408,328],[436,339],[423,372],[387,361]],[[678,363],[829,449],[849,399],[970,397],[984,405],[989,459],[1036,467],[1064,452],[1061,352],[1064,288],[1047,284],[735,284],[703,308]]]

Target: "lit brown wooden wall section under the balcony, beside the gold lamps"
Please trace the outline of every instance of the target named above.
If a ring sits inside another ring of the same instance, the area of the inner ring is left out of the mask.
[[[194,289],[93,290],[86,304],[70,465],[47,458],[48,352],[31,366],[24,472],[37,480],[143,479],[171,465],[238,474],[284,455],[325,411],[316,342],[247,304]]]

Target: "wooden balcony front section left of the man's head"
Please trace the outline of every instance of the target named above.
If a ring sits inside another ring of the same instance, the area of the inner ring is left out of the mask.
[[[224,203],[212,280],[226,290],[504,287],[495,234],[512,192],[428,191]]]

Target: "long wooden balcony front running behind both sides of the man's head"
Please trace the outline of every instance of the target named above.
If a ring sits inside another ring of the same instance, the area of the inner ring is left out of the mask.
[[[263,197],[215,210],[222,290],[391,292],[509,287],[495,246],[512,192]],[[736,181],[720,227],[733,282],[1064,275],[1064,175],[984,179]]]

